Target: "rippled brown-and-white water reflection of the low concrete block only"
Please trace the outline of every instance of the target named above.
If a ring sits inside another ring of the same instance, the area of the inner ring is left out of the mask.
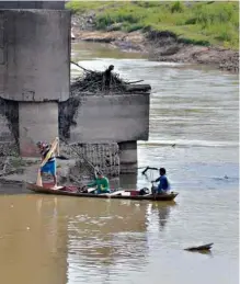
[[[126,260],[132,269],[145,263],[148,253],[146,206],[147,203],[135,203],[133,206],[128,202],[103,201],[90,214],[69,219],[69,261],[78,263],[71,269],[76,277],[82,275],[87,265],[94,268],[94,271],[89,269],[85,276],[91,281],[95,269],[100,273],[102,270],[110,272],[115,265],[125,264]]]

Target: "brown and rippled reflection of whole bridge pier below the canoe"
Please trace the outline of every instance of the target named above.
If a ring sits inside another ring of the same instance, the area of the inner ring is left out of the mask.
[[[174,204],[32,194],[2,197],[0,206],[8,213],[0,219],[5,224],[0,230],[2,283],[21,277],[21,283],[57,284],[67,283],[67,275],[72,282],[95,282],[98,273],[102,283],[119,265],[144,270],[148,226],[158,216],[160,231]]]

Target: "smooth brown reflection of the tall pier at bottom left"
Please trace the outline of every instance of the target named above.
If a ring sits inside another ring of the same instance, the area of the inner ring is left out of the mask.
[[[67,236],[59,234],[56,200],[1,196],[0,207],[1,283],[67,283],[67,259],[58,251]]]

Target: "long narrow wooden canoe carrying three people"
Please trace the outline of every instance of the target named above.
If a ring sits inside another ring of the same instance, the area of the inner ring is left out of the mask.
[[[43,184],[38,186],[35,183],[26,182],[25,186],[27,190],[31,190],[35,193],[42,194],[55,194],[55,195],[67,195],[76,197],[93,197],[93,198],[114,198],[114,200],[135,200],[135,201],[173,201],[178,192],[171,192],[167,194],[159,194],[153,196],[152,194],[139,195],[137,190],[123,190],[114,191],[113,193],[106,194],[94,194],[94,193],[81,193],[78,192],[78,186],[68,185],[68,186],[58,186],[57,189],[50,188],[49,184]]]

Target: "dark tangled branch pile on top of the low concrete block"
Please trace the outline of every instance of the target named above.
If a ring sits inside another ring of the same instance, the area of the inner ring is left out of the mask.
[[[105,71],[92,71],[88,70],[76,63],[72,63],[81,68],[84,73],[83,77],[79,77],[71,84],[71,95],[75,96],[79,92],[114,92],[123,93],[127,90],[126,82],[119,78],[119,75],[112,72],[114,66],[111,65]],[[141,81],[141,80],[140,80]]]

